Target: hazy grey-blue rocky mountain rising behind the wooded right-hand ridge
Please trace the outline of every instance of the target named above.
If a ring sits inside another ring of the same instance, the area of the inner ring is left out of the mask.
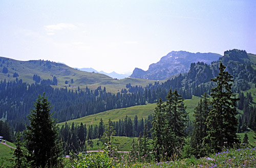
[[[218,53],[191,53],[187,51],[172,51],[162,57],[159,62],[151,64],[144,71],[135,68],[131,77],[162,80],[172,75],[188,72],[191,63],[204,62],[210,64],[217,61],[222,55]]]

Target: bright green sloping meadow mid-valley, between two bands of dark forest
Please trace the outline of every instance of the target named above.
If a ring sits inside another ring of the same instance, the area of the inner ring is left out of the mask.
[[[190,119],[193,119],[193,110],[197,106],[198,102],[200,100],[200,97],[193,96],[192,99],[187,99],[184,101],[185,105],[187,106],[187,113],[190,117]],[[100,119],[102,118],[104,123],[107,123],[109,119],[111,121],[119,121],[119,119],[124,119],[127,115],[128,117],[134,118],[135,115],[138,116],[139,119],[147,118],[148,115],[153,114],[156,107],[156,103],[153,104],[146,104],[146,105],[137,105],[127,108],[119,108],[119,109],[112,109],[108,111],[104,111],[102,113],[98,113],[95,115],[90,115],[86,117],[82,117],[79,119],[74,119],[67,121],[68,125],[72,125],[74,122],[75,125],[80,124],[81,122],[83,124],[87,125],[98,125],[100,122]],[[65,122],[58,123],[59,126],[64,125]]]

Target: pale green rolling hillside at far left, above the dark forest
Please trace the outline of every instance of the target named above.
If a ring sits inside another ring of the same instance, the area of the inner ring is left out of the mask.
[[[5,70],[7,72],[5,72]],[[125,88],[127,83],[131,85],[140,85],[145,87],[150,83],[154,83],[154,80],[125,78],[125,79],[113,79],[104,74],[91,73],[79,71],[64,64],[59,64],[50,61],[32,60],[32,61],[17,61],[9,58],[0,57],[0,80],[6,79],[15,80],[14,73],[18,74],[18,79],[22,79],[24,82],[34,83],[33,75],[39,75],[41,79],[51,79],[53,76],[57,78],[57,86],[54,88],[68,87],[69,89],[88,88],[96,89],[101,86],[105,87],[107,92],[116,93],[118,90]],[[71,82],[73,79],[73,83]],[[68,83],[65,84],[65,81]]]

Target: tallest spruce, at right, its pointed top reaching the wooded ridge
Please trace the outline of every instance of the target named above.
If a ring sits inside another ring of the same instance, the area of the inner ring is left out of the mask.
[[[224,71],[225,66],[220,63],[220,73],[211,81],[217,82],[217,87],[211,89],[212,110],[207,118],[207,136],[205,138],[208,145],[208,152],[218,152],[224,146],[232,147],[233,143],[238,143],[237,115],[235,95],[231,91],[232,76]]]

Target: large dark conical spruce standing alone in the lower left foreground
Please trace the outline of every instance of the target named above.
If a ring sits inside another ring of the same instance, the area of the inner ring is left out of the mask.
[[[50,102],[45,93],[38,96],[30,110],[30,126],[25,131],[28,160],[34,167],[60,166],[62,156],[56,120],[52,118]]]

